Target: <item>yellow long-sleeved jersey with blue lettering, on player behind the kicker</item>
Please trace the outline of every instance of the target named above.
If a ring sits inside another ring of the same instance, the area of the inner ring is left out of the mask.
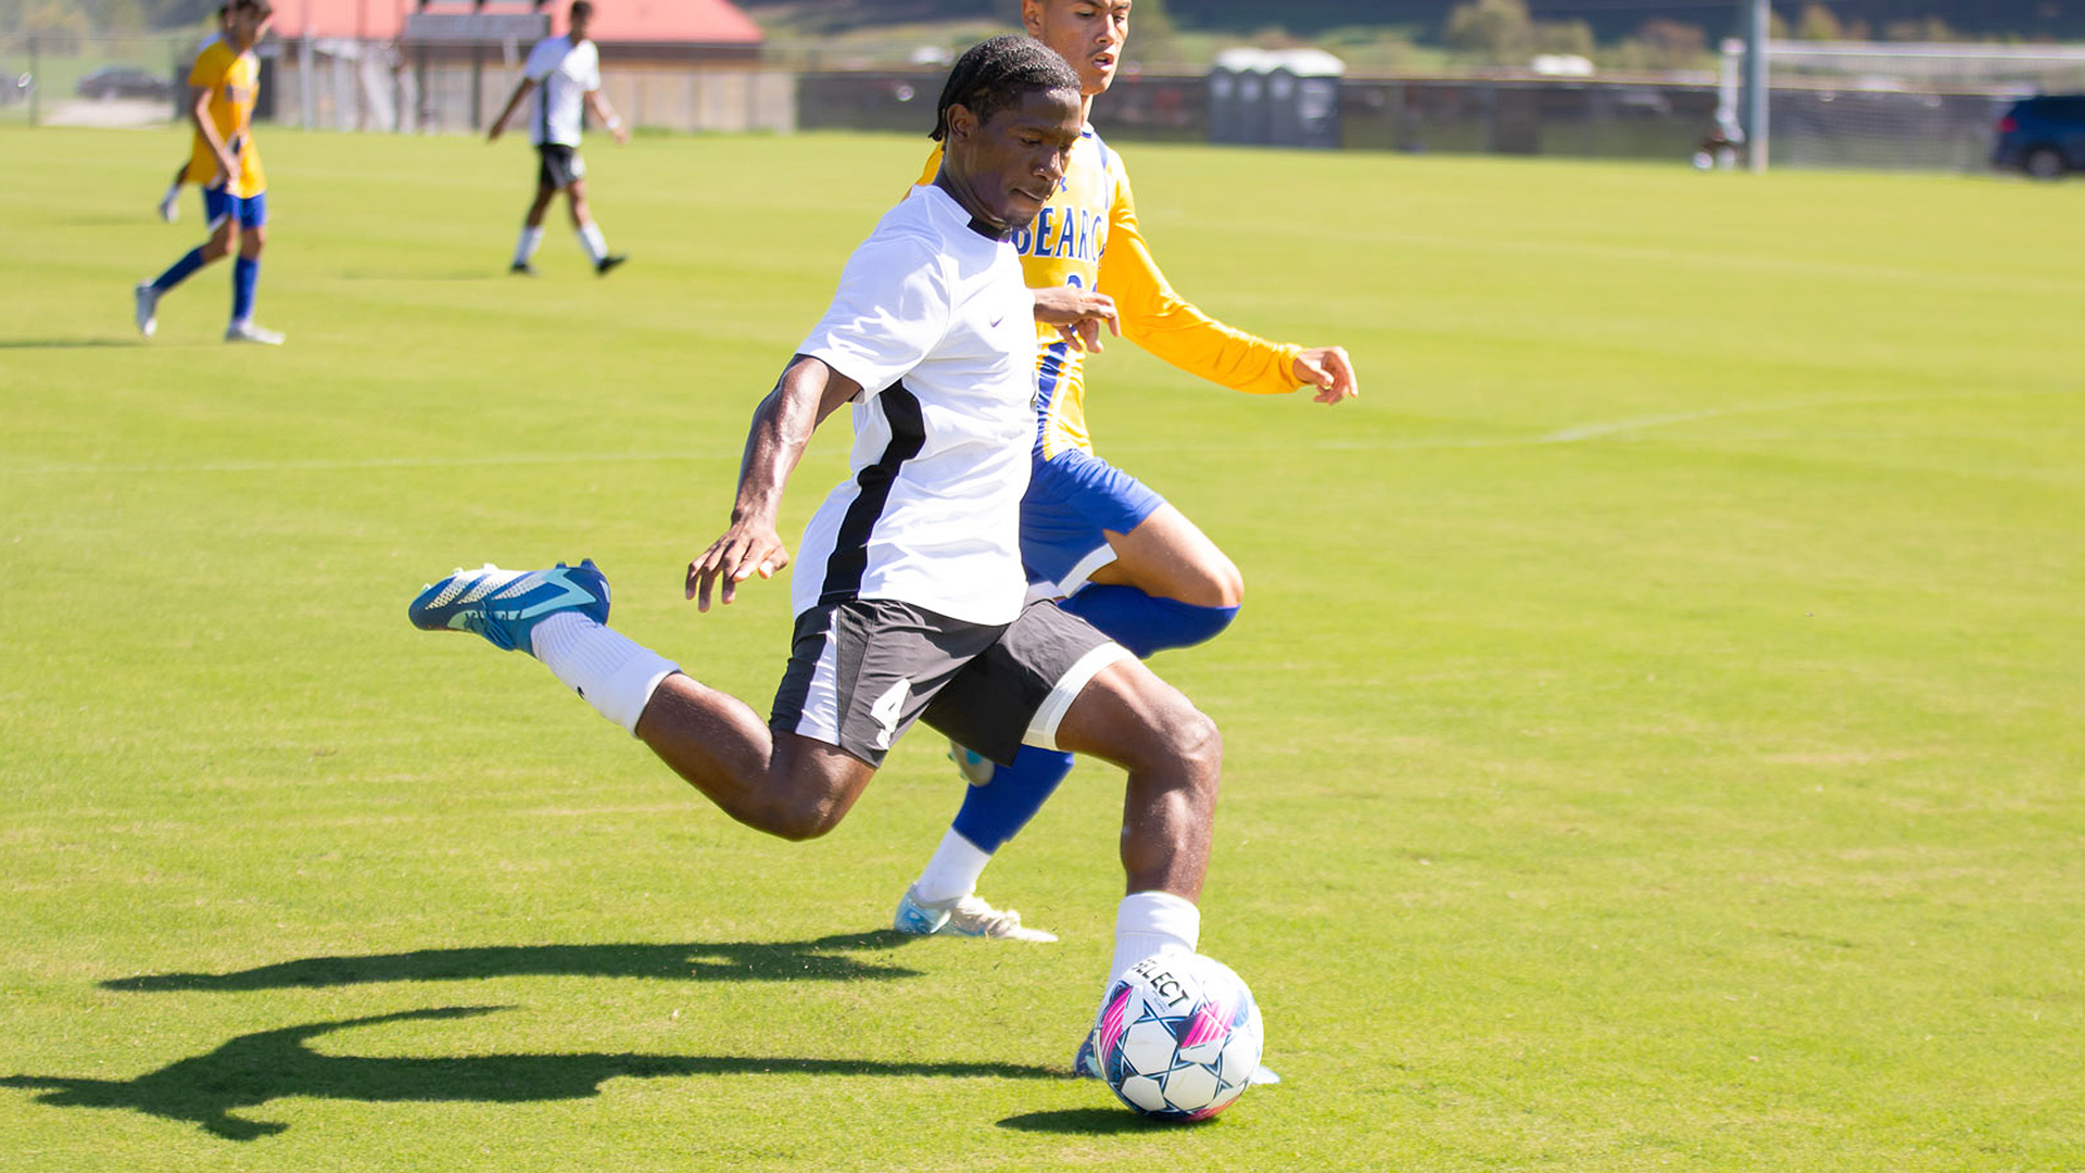
[[[926,161],[922,184],[940,173],[940,146]],[[1030,288],[1078,286],[1115,298],[1122,336],[1186,374],[1251,394],[1284,394],[1301,384],[1301,346],[1268,342],[1209,317],[1166,284],[1136,230],[1130,173],[1088,125],[1072,148],[1063,184],[1034,223],[1013,232],[1022,276]],[[1053,326],[1036,326],[1036,457],[1068,449],[1093,451],[1086,432],[1084,351],[1065,344]]]

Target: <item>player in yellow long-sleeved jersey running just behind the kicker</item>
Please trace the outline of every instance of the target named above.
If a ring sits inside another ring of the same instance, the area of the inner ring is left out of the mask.
[[[1028,35],[1078,71],[1090,115],[1122,61],[1130,0],[1022,0]],[[928,159],[926,179],[940,167]],[[1113,298],[1124,338],[1211,382],[1284,394],[1318,388],[1320,403],[1357,394],[1339,346],[1293,346],[1211,319],[1172,290],[1136,225],[1122,154],[1084,125],[1063,186],[1034,223],[1013,234],[1030,288],[1097,290]],[[1040,294],[1038,294],[1040,296]],[[1032,593],[1063,599],[1136,655],[1191,647],[1230,624],[1245,595],[1238,568],[1180,509],[1093,451],[1078,338],[1038,328],[1034,472],[1022,499],[1022,559]],[[1099,349],[1099,346],[1095,346]],[[905,933],[1055,941],[976,895],[992,852],[1034,818],[1072,756],[1024,747],[1011,764],[955,747],[972,781],[934,858],[892,918]]]

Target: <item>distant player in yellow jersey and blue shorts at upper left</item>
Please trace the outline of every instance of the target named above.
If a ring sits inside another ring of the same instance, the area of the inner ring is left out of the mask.
[[[238,248],[225,342],[281,344],[281,334],[254,326],[254,286],[261,282],[261,248],[267,244],[267,173],[261,171],[261,152],[252,142],[254,98],[261,96],[261,63],[252,50],[273,17],[267,0],[234,0],[225,38],[196,54],[196,65],[188,71],[188,113],[196,123],[188,179],[202,184],[211,238],[158,278],[138,284],[138,332],[146,338],[158,330],[158,298],[167,290]]]

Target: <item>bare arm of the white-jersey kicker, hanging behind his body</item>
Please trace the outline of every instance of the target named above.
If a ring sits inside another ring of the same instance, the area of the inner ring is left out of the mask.
[[[788,547],[776,532],[782,490],[796,472],[811,432],[857,394],[861,394],[859,382],[821,359],[796,355],[767,399],[753,409],[746,455],[738,465],[732,526],[688,564],[688,599],[696,599],[696,609],[709,609],[711,586],[717,582],[723,582],[721,601],[728,605],[746,578],[755,574],[774,578],[776,570],[788,566]]]

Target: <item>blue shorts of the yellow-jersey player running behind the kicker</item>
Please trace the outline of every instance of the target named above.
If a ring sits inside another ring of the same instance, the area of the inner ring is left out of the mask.
[[[1022,497],[1022,561],[1028,582],[1078,591],[1115,559],[1107,530],[1126,534],[1166,499],[1145,482],[1082,449],[1036,459]]]

